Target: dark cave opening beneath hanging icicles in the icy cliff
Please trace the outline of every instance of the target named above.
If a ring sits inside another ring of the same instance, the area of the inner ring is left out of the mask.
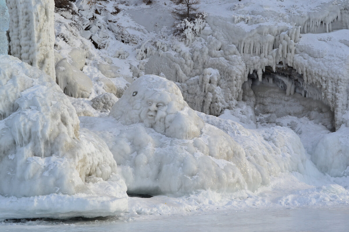
[[[272,67],[266,66],[261,81],[253,72],[248,75],[247,82],[253,95],[244,85],[243,100],[254,103],[257,123],[275,123],[295,129],[292,123],[284,125],[280,119],[286,116],[306,117],[331,132],[335,131],[334,112],[326,98],[322,99],[321,90],[312,83],[306,83],[303,75],[292,67],[278,65],[274,72]]]

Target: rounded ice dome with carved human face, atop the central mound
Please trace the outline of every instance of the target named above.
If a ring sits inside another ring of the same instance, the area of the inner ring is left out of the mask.
[[[126,125],[143,122],[158,133],[179,139],[198,137],[203,127],[177,85],[156,75],[135,80],[109,115]]]

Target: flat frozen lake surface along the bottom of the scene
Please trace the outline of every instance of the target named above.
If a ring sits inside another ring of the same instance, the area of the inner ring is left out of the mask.
[[[348,231],[349,208],[222,211],[164,218],[3,222],[1,231]]]

